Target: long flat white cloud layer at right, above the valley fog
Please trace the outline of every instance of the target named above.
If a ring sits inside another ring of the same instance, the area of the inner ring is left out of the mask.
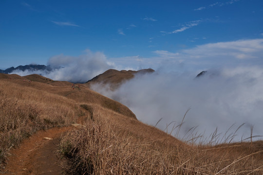
[[[151,45],[149,47],[155,47]],[[208,43],[176,52],[156,50],[151,57],[129,56],[109,58],[118,69],[152,68],[167,71],[206,70],[233,65],[258,65],[263,67],[263,39],[247,39]],[[140,62],[136,61],[139,58]]]

